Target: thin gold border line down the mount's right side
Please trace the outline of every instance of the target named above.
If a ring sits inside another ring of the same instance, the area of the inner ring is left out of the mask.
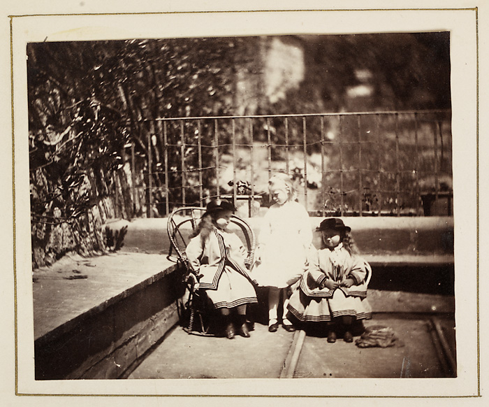
[[[476,234],[477,234],[477,260],[476,260],[476,298],[477,298],[477,393],[481,396],[481,336],[479,314],[479,8],[476,7]]]

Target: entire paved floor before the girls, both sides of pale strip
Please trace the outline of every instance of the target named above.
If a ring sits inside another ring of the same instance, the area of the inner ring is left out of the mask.
[[[441,319],[454,345],[453,320]],[[295,378],[438,378],[447,377],[432,342],[428,318],[379,315],[365,325],[394,329],[402,346],[358,348],[338,339],[327,343],[321,334],[305,338]],[[251,338],[213,338],[189,335],[176,327],[129,376],[155,378],[279,378],[293,334],[269,333],[255,324]]]

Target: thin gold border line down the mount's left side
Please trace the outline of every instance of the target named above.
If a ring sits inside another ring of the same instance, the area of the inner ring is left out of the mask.
[[[10,102],[12,103],[12,223],[13,223],[13,301],[14,301],[14,334],[15,334],[15,394],[18,394],[19,358],[17,348],[17,248],[15,245],[15,133],[14,133],[14,109],[13,109],[13,18],[10,17]]]

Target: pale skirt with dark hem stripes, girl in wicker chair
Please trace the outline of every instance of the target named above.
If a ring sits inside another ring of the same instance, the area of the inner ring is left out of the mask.
[[[217,290],[205,290],[214,308],[234,308],[256,303],[256,292],[249,280],[226,266],[217,283]]]

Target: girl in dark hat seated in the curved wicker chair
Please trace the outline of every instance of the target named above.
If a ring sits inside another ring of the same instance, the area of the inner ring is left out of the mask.
[[[196,289],[205,290],[214,308],[221,311],[230,339],[235,336],[231,311],[236,314],[238,334],[248,338],[247,304],[257,302],[245,266],[247,250],[238,235],[227,231],[234,211],[229,201],[210,201],[185,251],[198,278]]]

